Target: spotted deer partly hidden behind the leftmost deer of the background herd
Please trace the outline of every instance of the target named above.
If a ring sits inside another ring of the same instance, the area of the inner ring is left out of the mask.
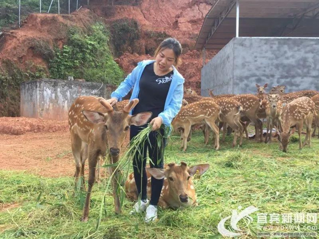
[[[243,141],[243,125],[240,122],[240,113],[242,111],[241,104],[234,99],[227,99],[227,98],[209,98],[209,97],[203,97],[203,101],[213,101],[220,107],[220,121],[223,123],[223,137],[222,140],[225,140],[225,134],[227,130],[227,125],[229,125],[234,131],[234,140],[233,140],[233,147],[235,147],[237,143],[237,137],[239,135],[239,145],[242,145]],[[218,120],[217,120],[218,121]],[[206,127],[203,130],[204,132],[204,138],[205,138],[205,144],[208,143],[209,140],[209,132],[210,127]]]

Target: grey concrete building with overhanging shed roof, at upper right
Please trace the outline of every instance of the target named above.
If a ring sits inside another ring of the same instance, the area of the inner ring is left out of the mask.
[[[319,90],[318,0],[218,0],[196,49],[219,51],[201,70],[201,95]]]

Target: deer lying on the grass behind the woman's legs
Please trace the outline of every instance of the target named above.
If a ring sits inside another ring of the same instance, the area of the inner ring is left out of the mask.
[[[180,165],[168,163],[164,169],[148,167],[146,168],[148,177],[147,196],[149,199],[151,198],[151,176],[156,179],[164,178],[158,204],[162,209],[197,206],[196,192],[191,177],[196,171],[201,175],[208,168],[209,164],[198,164],[187,167],[187,164],[182,161]],[[124,190],[128,198],[135,201],[138,200],[138,190],[133,173],[129,175],[128,180],[125,182]]]

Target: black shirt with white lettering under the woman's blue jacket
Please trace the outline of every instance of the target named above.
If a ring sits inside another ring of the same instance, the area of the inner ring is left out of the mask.
[[[134,108],[133,114],[150,111],[154,119],[164,111],[173,71],[164,76],[158,76],[154,72],[154,63],[144,68],[140,79],[139,104]]]

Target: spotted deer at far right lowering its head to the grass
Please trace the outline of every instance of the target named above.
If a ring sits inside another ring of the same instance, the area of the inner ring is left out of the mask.
[[[276,128],[280,136],[280,143],[283,152],[287,152],[289,138],[291,136],[290,127],[292,125],[298,126],[299,134],[299,149],[309,142],[309,147],[311,147],[311,126],[313,121],[313,116],[317,116],[315,110],[315,103],[308,97],[298,98],[290,103],[288,103],[282,112],[282,127],[283,130]],[[304,143],[302,144],[301,133],[304,123],[307,127],[307,133]]]

